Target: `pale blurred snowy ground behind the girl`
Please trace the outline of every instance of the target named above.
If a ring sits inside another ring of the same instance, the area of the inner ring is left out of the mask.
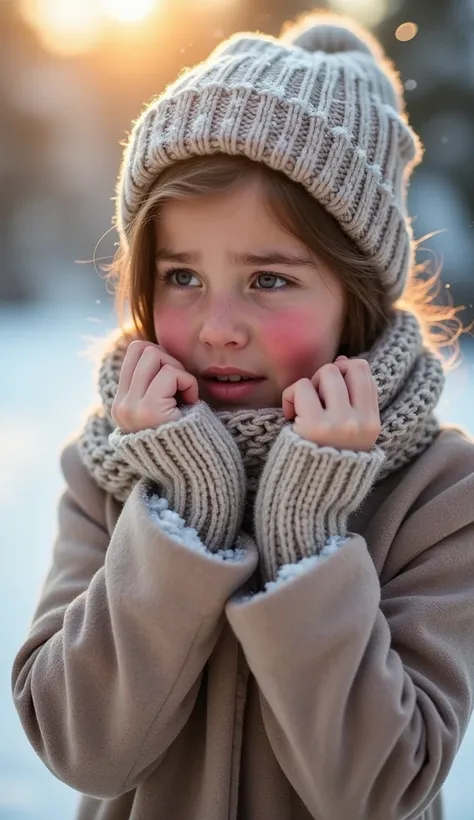
[[[26,741],[10,669],[48,567],[62,482],[57,454],[94,395],[86,337],[112,326],[100,305],[0,310],[0,820],[70,820],[75,792]],[[474,346],[449,377],[441,416],[474,434]],[[474,820],[474,721],[444,789],[446,820]]]

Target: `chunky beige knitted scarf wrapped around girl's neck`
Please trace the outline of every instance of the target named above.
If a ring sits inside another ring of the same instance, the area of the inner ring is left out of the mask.
[[[82,460],[97,484],[124,502],[140,476],[109,444],[115,424],[110,415],[120,370],[131,335],[115,332],[107,340],[98,373],[99,406],[79,436]],[[439,432],[434,411],[444,386],[439,358],[423,344],[414,314],[394,310],[386,330],[367,359],[378,392],[382,429],[377,444],[386,460],[378,481],[420,455]],[[216,410],[243,458],[250,495],[254,496],[269,450],[287,422],[281,407]]]

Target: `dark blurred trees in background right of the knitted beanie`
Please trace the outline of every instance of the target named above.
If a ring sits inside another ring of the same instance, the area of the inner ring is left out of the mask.
[[[395,36],[406,21],[418,32]],[[474,297],[474,3],[471,0],[397,0],[376,32],[405,82],[410,121],[425,153],[415,172],[411,202],[415,231],[445,233],[428,246],[443,262],[442,278],[453,301]]]

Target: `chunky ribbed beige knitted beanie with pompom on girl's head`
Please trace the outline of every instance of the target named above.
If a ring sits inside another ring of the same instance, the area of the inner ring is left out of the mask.
[[[312,13],[280,39],[242,33],[145,108],[116,197],[122,246],[157,175],[196,156],[245,156],[283,172],[331,213],[392,301],[413,264],[406,211],[421,143],[378,42],[340,15]]]

